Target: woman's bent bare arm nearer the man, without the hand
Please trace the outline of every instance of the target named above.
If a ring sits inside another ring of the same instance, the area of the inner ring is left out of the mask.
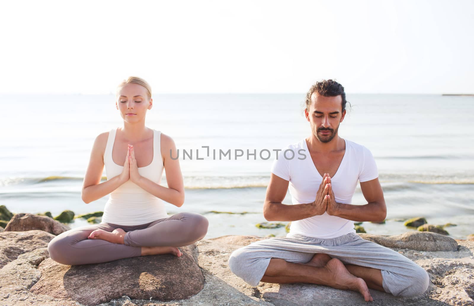
[[[174,206],[181,207],[184,203],[184,183],[182,181],[181,168],[179,166],[179,160],[173,160],[171,158],[171,156],[177,156],[176,145],[170,136],[164,135],[163,133],[160,139],[160,151],[163,158],[168,188],[158,185],[144,177],[140,177],[137,185],[155,197],[161,198]]]

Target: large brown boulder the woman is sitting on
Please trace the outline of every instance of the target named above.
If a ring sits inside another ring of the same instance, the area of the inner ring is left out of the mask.
[[[162,301],[187,299],[204,287],[201,269],[193,258],[194,245],[171,254],[138,256],[100,264],[68,266],[51,259],[38,269],[41,279],[30,292],[71,298],[85,305],[109,302],[124,295]]]

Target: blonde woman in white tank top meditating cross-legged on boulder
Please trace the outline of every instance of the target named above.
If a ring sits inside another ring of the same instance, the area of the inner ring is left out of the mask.
[[[181,207],[184,187],[179,161],[171,158],[177,156],[173,139],[145,126],[146,111],[152,106],[145,80],[129,77],[118,86],[116,108],[123,127],[97,136],[82,185],[85,203],[110,194],[102,222],[51,240],[48,251],[54,261],[80,265],[153,254],[180,257],[178,246],[206,235],[204,216],[166,214],[163,201]],[[108,180],[100,183],[104,165]],[[160,185],[163,169],[168,188]]]

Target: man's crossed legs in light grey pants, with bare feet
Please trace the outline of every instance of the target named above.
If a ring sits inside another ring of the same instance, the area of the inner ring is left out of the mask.
[[[429,282],[428,273],[413,261],[353,233],[262,240],[233,252],[229,267],[252,286],[259,281],[313,283],[359,291],[365,301],[373,300],[367,287],[407,297],[425,292]]]

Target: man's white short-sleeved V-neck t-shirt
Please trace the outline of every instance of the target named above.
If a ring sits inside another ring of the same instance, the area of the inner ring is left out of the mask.
[[[346,152],[336,174],[331,177],[331,186],[336,202],[352,204],[357,180],[374,180],[379,175],[369,149],[346,139],[345,142]],[[313,202],[323,180],[311,159],[306,139],[285,147],[273,161],[272,173],[290,182],[293,205]],[[334,238],[348,233],[356,233],[354,221],[330,216],[327,212],[292,221],[290,226],[290,234],[314,238]]]

